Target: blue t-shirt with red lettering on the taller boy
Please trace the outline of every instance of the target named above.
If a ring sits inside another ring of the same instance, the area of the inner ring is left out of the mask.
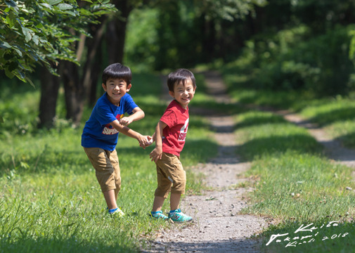
[[[113,151],[117,145],[119,131],[110,122],[120,120],[124,112],[129,115],[138,107],[131,96],[126,93],[120,101],[120,106],[113,105],[106,93],[98,98],[89,120],[85,123],[82,132],[82,146],[84,148],[103,148]]]

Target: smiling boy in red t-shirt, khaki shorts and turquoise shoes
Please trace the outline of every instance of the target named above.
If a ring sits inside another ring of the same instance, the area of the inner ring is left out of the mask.
[[[155,149],[150,153],[150,158],[157,166],[157,189],[150,216],[174,222],[192,221],[179,209],[181,194],[185,193],[186,186],[186,172],[180,162],[180,152],[185,144],[188,103],[195,94],[196,81],[191,71],[179,69],[169,74],[167,86],[174,100],[160,118],[153,134]],[[161,210],[169,192],[170,212],[166,216]]]

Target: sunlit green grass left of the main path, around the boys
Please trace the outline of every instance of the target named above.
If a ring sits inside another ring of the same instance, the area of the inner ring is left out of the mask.
[[[148,74],[135,77],[130,93],[146,117],[132,123],[131,128],[153,134],[166,108],[166,103],[157,99],[160,78]],[[0,110],[15,108],[13,103],[23,94],[22,103],[26,103],[29,114],[24,120],[34,126],[36,90],[3,97]],[[108,216],[95,172],[80,145],[82,127],[90,112],[86,108],[79,129],[60,119],[51,131],[30,127],[23,133],[15,126],[8,128],[11,119],[4,117],[5,123],[0,126],[6,128],[1,129],[6,134],[0,136],[0,252],[138,252],[160,228],[176,226],[147,215],[156,188],[155,164],[149,159],[154,147],[143,150],[134,139],[123,135],[117,143],[122,175],[118,205],[127,216]],[[22,112],[13,111],[13,117],[20,120]],[[188,194],[198,194],[204,187],[200,176],[188,168],[214,156],[217,144],[211,136],[204,118],[191,117],[181,153],[188,174]],[[165,202],[164,211],[168,206]]]

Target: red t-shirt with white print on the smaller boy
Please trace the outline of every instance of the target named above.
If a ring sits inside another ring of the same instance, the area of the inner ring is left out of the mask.
[[[162,131],[162,152],[180,156],[188,131],[188,108],[172,100],[160,121],[167,124]]]

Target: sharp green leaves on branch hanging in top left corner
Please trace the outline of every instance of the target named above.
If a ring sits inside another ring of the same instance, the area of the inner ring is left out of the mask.
[[[37,63],[53,74],[58,60],[77,63],[75,32],[89,36],[87,25],[115,10],[109,0],[1,0],[0,70],[32,84],[28,72]]]

